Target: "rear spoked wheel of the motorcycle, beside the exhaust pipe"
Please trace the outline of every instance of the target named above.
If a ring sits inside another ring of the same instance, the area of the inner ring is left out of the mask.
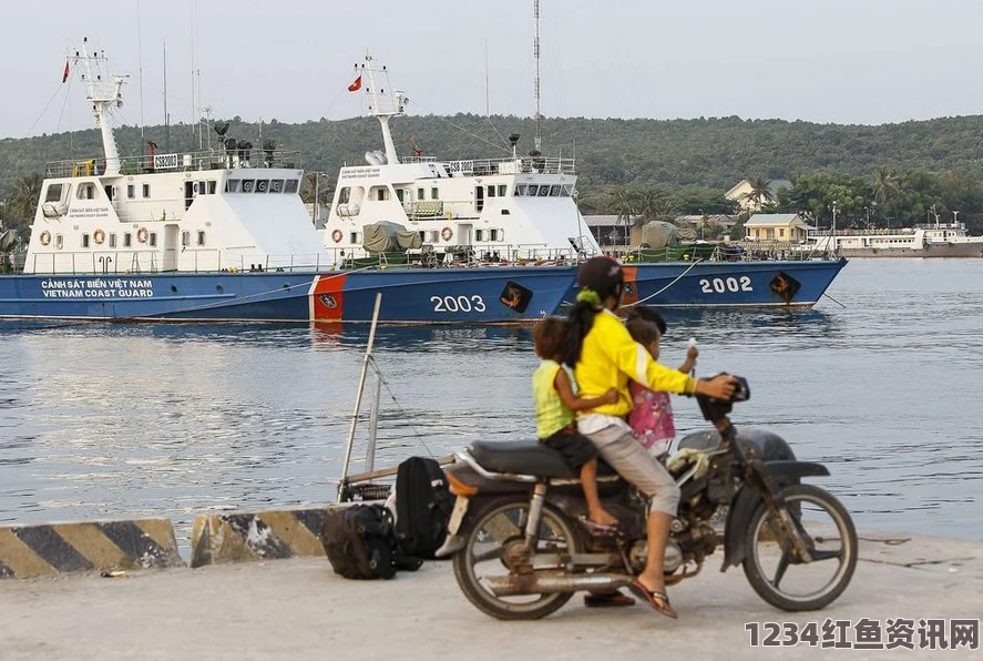
[[[536,620],[570,601],[572,592],[498,597],[489,588],[489,578],[510,574],[509,565],[523,541],[529,518],[526,498],[509,498],[489,506],[454,555],[454,578],[468,600],[482,612],[500,620]],[[571,523],[552,507],[544,506],[540,521],[539,553],[573,553],[576,538]],[[559,569],[535,571],[557,572]]]

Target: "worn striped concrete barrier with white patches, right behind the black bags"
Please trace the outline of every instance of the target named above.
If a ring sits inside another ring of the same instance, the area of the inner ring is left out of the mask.
[[[339,505],[252,512],[198,515],[191,540],[191,566],[324,557],[325,516]]]

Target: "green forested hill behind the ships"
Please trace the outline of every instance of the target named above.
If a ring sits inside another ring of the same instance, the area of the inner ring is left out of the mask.
[[[519,149],[532,146],[533,122],[514,116],[406,116],[392,121],[401,154],[410,154],[416,138],[424,154],[442,159],[504,156],[504,136],[522,135]],[[144,130],[158,153],[197,145],[190,125]],[[258,146],[256,124],[233,121],[229,135]],[[116,131],[120,152],[144,151],[140,130]],[[263,125],[263,138],[298,150],[308,171],[334,177],[342,163],[363,163],[367,150],[381,149],[378,123],[371,118],[310,121],[300,124],[274,120]],[[487,142],[484,142],[487,141]],[[492,143],[492,144],[489,144]],[[213,140],[213,144],[215,141]],[[793,179],[815,171],[869,177],[878,167],[899,172],[954,172],[969,180],[983,171],[983,116],[944,118],[880,126],[815,124],[739,118],[697,120],[546,119],[546,155],[576,156],[580,187],[590,196],[610,185],[708,186],[726,191],[751,174]],[[47,161],[99,156],[95,130],[30,139],[0,140],[0,196],[11,182],[42,172]]]

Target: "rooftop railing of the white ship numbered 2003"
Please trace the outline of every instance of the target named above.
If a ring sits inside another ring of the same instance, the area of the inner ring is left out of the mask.
[[[120,174],[235,170],[240,167],[295,169],[299,160],[299,151],[263,150],[256,148],[154,155],[142,154],[121,157]],[[105,159],[102,156],[96,159],[51,161],[44,169],[45,177],[100,176],[102,174],[105,174]]]

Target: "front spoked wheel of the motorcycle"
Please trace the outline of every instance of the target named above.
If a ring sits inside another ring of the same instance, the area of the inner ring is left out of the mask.
[[[781,491],[806,540],[811,562],[796,559],[782,545],[777,517],[764,502],[747,530],[744,573],[761,599],[786,611],[823,608],[836,600],[857,568],[857,530],[840,501],[812,485]]]

